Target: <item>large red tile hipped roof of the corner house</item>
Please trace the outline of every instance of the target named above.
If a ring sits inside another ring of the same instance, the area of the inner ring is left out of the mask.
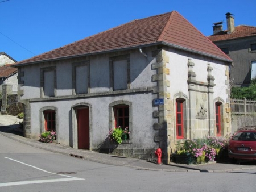
[[[138,48],[150,44],[167,44],[225,61],[232,61],[187,19],[177,11],[172,11],[145,19],[133,20],[16,64],[33,64],[40,61],[58,60],[117,49]]]

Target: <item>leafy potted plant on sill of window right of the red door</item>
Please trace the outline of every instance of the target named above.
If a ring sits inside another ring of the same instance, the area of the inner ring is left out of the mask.
[[[122,128],[121,126],[116,127],[114,129],[109,130],[109,139],[110,141],[114,141],[118,144],[121,144],[123,140],[127,139],[127,135],[129,135],[129,128]]]

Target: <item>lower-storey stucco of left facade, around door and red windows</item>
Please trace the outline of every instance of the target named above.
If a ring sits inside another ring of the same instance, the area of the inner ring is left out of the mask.
[[[57,108],[58,116],[58,142],[60,144],[69,145],[69,139],[72,138],[72,116],[71,109],[73,105],[77,103],[88,103],[92,106],[90,108],[90,116],[92,124],[92,137],[91,143],[93,148],[97,148],[97,145],[102,143],[102,140],[108,138],[109,132],[109,104],[114,101],[130,101],[132,102],[131,117],[133,120],[132,130],[132,143],[134,148],[141,148],[147,146],[148,148],[154,148],[156,143],[148,142],[154,140],[154,130],[152,124],[157,123],[157,119],[152,118],[152,113],[156,110],[148,103],[151,103],[154,99],[154,95],[147,94],[135,94],[124,95],[118,97],[100,97],[100,98],[88,98],[88,99],[76,99],[66,101],[55,102],[32,102],[31,103],[31,134],[32,137],[38,138],[40,132],[40,109],[45,106],[53,106]]]

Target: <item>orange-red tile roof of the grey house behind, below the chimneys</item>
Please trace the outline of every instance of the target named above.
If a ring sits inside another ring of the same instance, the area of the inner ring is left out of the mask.
[[[223,40],[230,40],[230,39],[237,39],[241,37],[248,37],[248,36],[256,36],[256,27],[253,26],[237,26],[235,30],[231,34],[227,34],[227,31],[221,31],[217,34],[211,35],[208,38],[215,42],[215,41],[223,41]]]

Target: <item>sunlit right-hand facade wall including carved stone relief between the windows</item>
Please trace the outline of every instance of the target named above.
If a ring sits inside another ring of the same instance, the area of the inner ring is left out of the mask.
[[[186,114],[188,120],[185,127],[187,131],[184,137],[191,139],[208,135],[215,136],[214,102],[216,102],[217,98],[221,98],[221,101],[224,102],[228,99],[228,94],[226,94],[228,89],[228,85],[226,85],[228,77],[225,74],[226,65],[220,60],[210,59],[209,57],[185,51],[177,51],[176,49],[170,49],[166,52],[166,55],[169,59],[167,68],[170,69],[170,75],[167,76],[167,79],[170,81],[170,87],[167,87],[167,91],[170,93],[171,99],[173,99],[174,111],[175,99],[179,97],[177,95],[180,93],[185,95],[184,97],[187,102]],[[191,68],[192,72],[196,74],[192,87],[188,85],[188,59],[195,64]],[[212,72],[210,72],[210,75],[214,77],[215,85],[213,89],[208,89],[207,86],[208,66],[213,68]],[[191,91],[189,91],[190,88]],[[207,110],[204,117],[200,116],[201,107]],[[174,127],[176,127],[176,115],[174,114],[173,117]],[[174,133],[174,139],[176,139],[176,132]],[[177,143],[177,140],[175,142]]]

